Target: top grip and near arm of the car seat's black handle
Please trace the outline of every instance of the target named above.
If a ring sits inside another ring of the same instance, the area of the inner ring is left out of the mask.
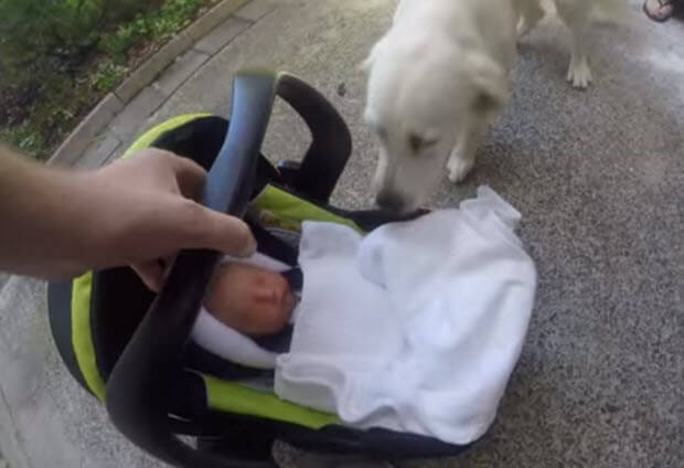
[[[228,135],[204,189],[204,203],[209,208],[244,215],[278,79],[275,74],[264,72],[244,72],[235,76]],[[275,467],[272,461],[243,460],[195,450],[179,440],[170,428],[168,395],[174,376],[182,372],[182,351],[220,258],[221,254],[212,251],[179,254],[164,287],[109,376],[107,411],[124,435],[172,465]]]

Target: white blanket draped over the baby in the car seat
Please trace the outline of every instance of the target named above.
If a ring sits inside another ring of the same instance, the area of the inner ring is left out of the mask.
[[[382,226],[363,238],[303,224],[304,286],[276,393],[453,444],[491,425],[532,312],[536,272],[520,214],[489,188],[459,210]]]

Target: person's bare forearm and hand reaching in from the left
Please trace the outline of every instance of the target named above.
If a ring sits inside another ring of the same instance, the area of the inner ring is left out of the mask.
[[[244,222],[192,200],[204,177],[158,149],[77,172],[0,148],[0,270],[54,277],[130,265],[158,289],[180,249],[249,255],[256,244]]]

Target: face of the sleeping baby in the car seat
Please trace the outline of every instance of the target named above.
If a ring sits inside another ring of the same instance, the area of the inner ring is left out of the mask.
[[[286,326],[295,299],[282,275],[248,265],[223,264],[214,275],[204,305],[231,328],[263,336]]]

